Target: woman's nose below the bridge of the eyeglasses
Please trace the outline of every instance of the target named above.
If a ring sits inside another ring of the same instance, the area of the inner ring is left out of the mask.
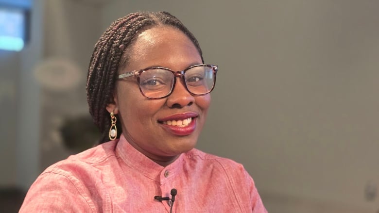
[[[182,79],[177,78],[171,95],[167,98],[170,108],[183,108],[195,102],[195,98],[189,93]]]

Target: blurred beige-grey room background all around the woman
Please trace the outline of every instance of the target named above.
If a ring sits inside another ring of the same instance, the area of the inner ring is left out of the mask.
[[[377,0],[0,0],[0,212],[96,142],[89,59],[139,10],[177,16],[219,65],[197,148],[243,164],[270,213],[379,212]]]

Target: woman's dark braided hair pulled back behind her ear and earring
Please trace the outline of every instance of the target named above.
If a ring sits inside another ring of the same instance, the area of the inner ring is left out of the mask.
[[[100,144],[108,141],[111,118],[106,106],[113,103],[113,94],[119,66],[128,62],[129,50],[138,34],[156,26],[171,26],[186,34],[198,50],[204,63],[202,50],[192,33],[168,12],[138,12],[115,20],[95,45],[88,67],[86,82],[89,113],[101,132]],[[118,118],[118,115],[116,115]],[[120,122],[116,124],[120,138]]]

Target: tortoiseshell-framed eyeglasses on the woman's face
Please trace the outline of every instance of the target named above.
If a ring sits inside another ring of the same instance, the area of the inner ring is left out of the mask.
[[[195,65],[185,70],[173,71],[165,67],[149,67],[119,75],[118,79],[136,76],[139,91],[146,98],[158,99],[171,95],[176,77],[184,80],[187,91],[193,96],[210,93],[216,83],[216,65]]]

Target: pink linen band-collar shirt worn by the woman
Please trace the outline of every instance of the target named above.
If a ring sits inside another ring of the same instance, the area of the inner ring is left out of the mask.
[[[156,164],[120,140],[48,167],[30,187],[20,213],[267,213],[241,164],[198,149]]]

